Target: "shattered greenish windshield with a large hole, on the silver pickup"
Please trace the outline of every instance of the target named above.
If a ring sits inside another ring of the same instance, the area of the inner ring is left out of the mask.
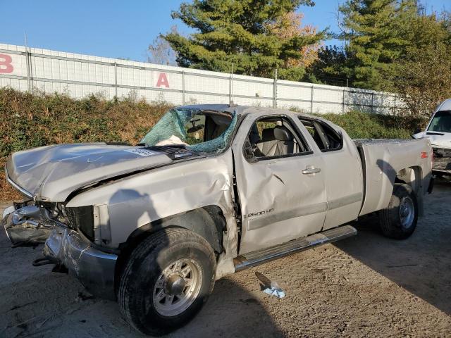
[[[192,108],[173,108],[140,143],[146,146],[185,146],[200,153],[221,153],[228,145],[236,114]]]

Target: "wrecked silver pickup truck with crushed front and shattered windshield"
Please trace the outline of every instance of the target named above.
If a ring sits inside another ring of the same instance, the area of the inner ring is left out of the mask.
[[[187,323],[215,280],[357,234],[378,211],[405,239],[431,190],[428,139],[352,140],[312,115],[231,105],[173,108],[137,146],[18,151],[6,178],[25,201],[4,213],[15,245],[92,294],[117,300],[144,334]]]

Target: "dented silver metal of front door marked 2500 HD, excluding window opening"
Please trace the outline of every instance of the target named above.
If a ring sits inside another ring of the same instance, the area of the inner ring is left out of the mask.
[[[249,115],[240,125],[233,142],[242,212],[240,254],[319,232],[326,218],[323,172],[302,174],[308,165],[324,168],[321,154],[316,152],[257,162],[248,162],[244,158],[242,146],[248,132],[257,118],[268,113],[262,110],[249,108]],[[294,113],[278,112],[290,117],[296,125],[299,123]],[[273,110],[269,112],[273,113]]]

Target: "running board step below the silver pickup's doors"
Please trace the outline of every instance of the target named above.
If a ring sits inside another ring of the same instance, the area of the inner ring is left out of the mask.
[[[319,232],[317,234],[311,234],[307,237],[295,239],[287,243],[271,246],[266,249],[258,251],[252,251],[238,256],[233,260],[235,263],[235,271],[245,270],[254,266],[273,261],[278,258],[282,258],[292,253],[311,249],[315,246],[331,243],[340,239],[355,236],[357,230],[351,225],[343,225],[341,227],[335,227],[334,229]]]

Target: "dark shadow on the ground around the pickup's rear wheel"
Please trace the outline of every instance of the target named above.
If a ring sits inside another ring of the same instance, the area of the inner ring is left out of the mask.
[[[451,184],[438,182],[425,197],[424,217],[405,240],[388,239],[378,231],[377,216],[353,223],[357,237],[337,242],[345,253],[451,315],[450,238]]]

